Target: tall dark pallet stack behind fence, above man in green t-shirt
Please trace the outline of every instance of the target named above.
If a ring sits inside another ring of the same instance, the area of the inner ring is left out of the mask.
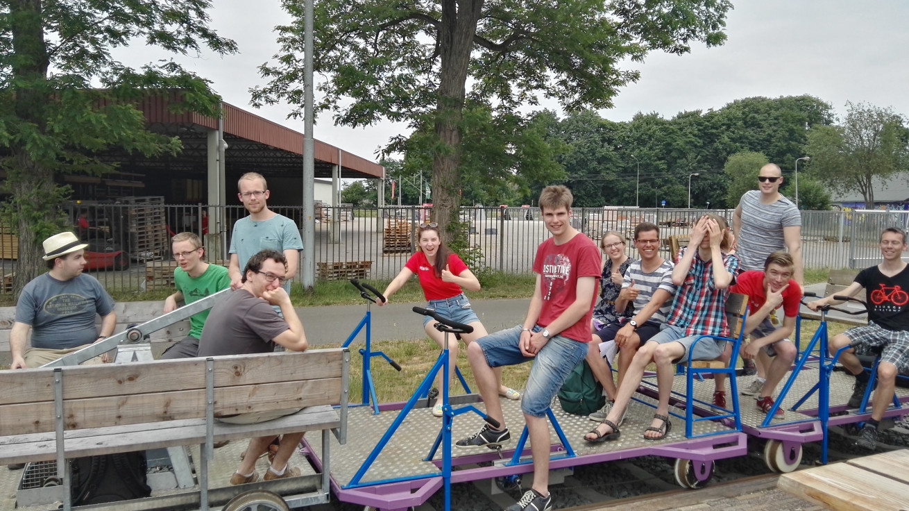
[[[170,252],[163,196],[121,197],[126,209],[129,252],[140,260],[163,259]]]

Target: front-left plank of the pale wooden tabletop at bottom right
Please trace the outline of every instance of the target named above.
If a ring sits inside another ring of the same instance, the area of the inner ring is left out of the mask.
[[[846,463],[784,474],[776,486],[835,511],[900,511],[909,503],[909,486]]]

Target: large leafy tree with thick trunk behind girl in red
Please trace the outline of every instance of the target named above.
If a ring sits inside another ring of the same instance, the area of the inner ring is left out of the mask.
[[[254,104],[299,104],[304,96],[304,7],[283,5],[294,22],[277,28],[282,53],[260,68],[271,82],[253,91]],[[569,110],[609,107],[639,76],[619,62],[654,50],[684,54],[693,41],[720,45],[731,7],[729,0],[325,0],[315,7],[315,71],[328,77],[319,107],[343,125],[380,118],[432,125],[433,202],[445,227],[457,205],[468,97],[514,111],[539,95]]]

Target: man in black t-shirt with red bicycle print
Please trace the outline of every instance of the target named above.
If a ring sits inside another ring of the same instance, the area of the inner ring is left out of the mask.
[[[903,262],[906,249],[905,233],[896,227],[884,229],[880,240],[884,261],[877,266],[865,268],[855,281],[837,295],[854,296],[864,289],[868,305],[868,325],[855,326],[830,341],[830,353],[843,346],[853,347],[840,355],[840,362],[855,376],[855,387],[849,398],[849,407],[862,404],[869,375],[864,372],[855,354],[865,354],[879,348],[881,362],[877,366],[877,387],[872,401],[871,419],[864,423],[862,433],[856,442],[858,446],[874,449],[877,428],[884,411],[894,396],[897,373],[909,371],[909,270]],[[808,304],[812,310],[821,306],[841,303],[827,296]]]

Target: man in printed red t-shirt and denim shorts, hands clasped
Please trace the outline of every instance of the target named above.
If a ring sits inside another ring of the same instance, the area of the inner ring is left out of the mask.
[[[540,211],[553,237],[536,249],[536,286],[524,324],[480,338],[467,346],[467,358],[480,387],[486,415],[500,429],[484,425],[458,447],[499,447],[511,438],[504,424],[493,367],[514,366],[535,359],[530,368],[521,410],[534,459],[534,486],[506,511],[551,509],[549,495],[549,427],[546,411],[574,366],[584,360],[590,340],[601,259],[596,244],[571,226],[572,194],[562,185],[546,186]]]

